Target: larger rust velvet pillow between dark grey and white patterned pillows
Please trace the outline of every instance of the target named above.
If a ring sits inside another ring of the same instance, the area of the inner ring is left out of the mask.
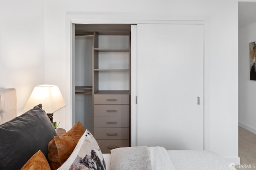
[[[49,142],[48,159],[52,170],[58,169],[68,159],[84,132],[84,126],[78,121],[69,131]]]

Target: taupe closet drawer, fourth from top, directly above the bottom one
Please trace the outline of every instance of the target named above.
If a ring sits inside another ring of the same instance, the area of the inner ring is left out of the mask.
[[[94,128],[95,139],[129,139],[129,128]]]

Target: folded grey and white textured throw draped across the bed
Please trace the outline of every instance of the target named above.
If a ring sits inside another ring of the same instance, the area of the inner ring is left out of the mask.
[[[174,170],[163,147],[126,147],[111,150],[110,170]]]

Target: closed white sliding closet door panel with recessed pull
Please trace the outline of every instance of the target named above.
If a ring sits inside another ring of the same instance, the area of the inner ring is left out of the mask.
[[[138,24],[137,43],[138,146],[202,150],[203,25]]]

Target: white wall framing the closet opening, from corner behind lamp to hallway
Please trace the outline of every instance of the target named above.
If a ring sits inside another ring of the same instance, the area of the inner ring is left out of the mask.
[[[56,116],[70,128],[70,58],[65,57],[66,12],[92,18],[154,20],[209,18],[206,37],[206,149],[234,163],[238,158],[238,2],[235,0],[45,0],[45,81],[58,84],[66,98],[66,117]],[[83,13],[86,12],[86,13]],[[66,54],[66,56],[70,56]],[[48,68],[57,68],[48,70]]]

